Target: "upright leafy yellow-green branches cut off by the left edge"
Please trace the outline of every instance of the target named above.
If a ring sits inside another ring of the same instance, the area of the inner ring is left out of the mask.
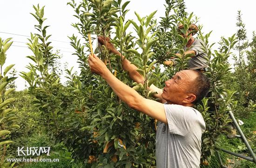
[[[7,149],[10,143],[13,143],[10,139],[11,131],[19,129],[17,125],[16,110],[12,108],[11,103],[15,101],[15,98],[8,97],[8,95],[15,90],[15,88],[7,88],[7,84],[10,84],[16,78],[9,78],[7,76],[14,65],[8,65],[4,70],[5,61],[7,59],[6,52],[13,42],[11,39],[2,40],[0,38],[0,167],[5,168],[13,166],[11,162],[7,162],[9,153]]]

